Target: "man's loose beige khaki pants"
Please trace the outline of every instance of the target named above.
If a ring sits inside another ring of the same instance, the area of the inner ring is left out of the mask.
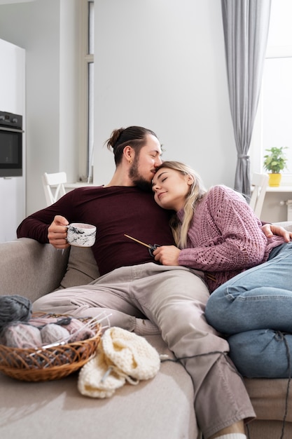
[[[228,342],[204,318],[209,291],[199,274],[183,266],[125,266],[89,285],[43,296],[33,309],[74,316],[106,311],[112,326],[126,330],[146,316],[192,377],[197,423],[209,438],[255,413],[242,378],[225,356]]]

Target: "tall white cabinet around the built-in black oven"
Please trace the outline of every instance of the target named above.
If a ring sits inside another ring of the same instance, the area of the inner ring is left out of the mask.
[[[0,110],[21,114],[25,130],[25,50],[0,39],[0,63]],[[22,177],[0,178],[0,243],[15,239],[25,217],[25,133],[22,146]]]

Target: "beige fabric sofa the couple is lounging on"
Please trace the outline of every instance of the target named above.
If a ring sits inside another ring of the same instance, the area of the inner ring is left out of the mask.
[[[286,225],[286,224],[285,224]],[[292,231],[292,223],[288,225]],[[90,248],[56,250],[20,238],[0,244],[0,294],[34,302],[59,288],[99,276]],[[160,335],[146,337],[158,353],[173,358]],[[19,381],[0,372],[0,437],[31,439],[197,439],[193,386],[180,363],[166,361],[153,379],[125,384],[111,398],[82,396],[78,372],[55,381]],[[288,379],[246,379],[257,419],[250,439],[292,437],[292,393]]]

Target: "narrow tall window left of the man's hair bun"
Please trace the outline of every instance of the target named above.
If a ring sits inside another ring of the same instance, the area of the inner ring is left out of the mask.
[[[95,2],[82,0],[81,13],[81,138],[79,180],[92,181],[94,123]]]

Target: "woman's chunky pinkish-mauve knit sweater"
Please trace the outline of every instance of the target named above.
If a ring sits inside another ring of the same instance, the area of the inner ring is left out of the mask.
[[[177,216],[183,219],[180,210]],[[200,269],[210,291],[236,274],[265,262],[281,236],[266,238],[244,198],[224,186],[212,187],[197,204],[179,264]]]

